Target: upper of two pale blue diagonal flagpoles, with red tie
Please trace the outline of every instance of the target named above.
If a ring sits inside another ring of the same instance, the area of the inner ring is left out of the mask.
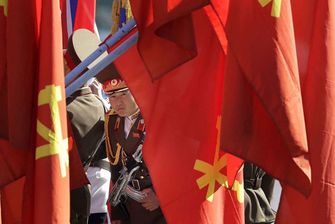
[[[120,30],[114,33],[109,39],[106,40],[106,44],[98,47],[92,54],[90,54],[85,60],[83,60],[78,66],[76,66],[69,74],[65,76],[65,85],[69,84],[75,77],[79,75],[87,66],[89,66],[95,59],[102,55],[109,47],[112,47],[118,40],[120,40],[129,30],[136,25],[134,19],[129,20]],[[109,46],[109,47],[108,47]]]

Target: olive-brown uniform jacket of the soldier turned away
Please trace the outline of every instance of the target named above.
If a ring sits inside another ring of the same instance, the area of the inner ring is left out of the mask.
[[[82,162],[89,163],[100,139],[104,135],[105,106],[89,87],[76,90],[66,98],[66,107]],[[89,186],[70,191],[71,213],[88,216],[90,210]]]

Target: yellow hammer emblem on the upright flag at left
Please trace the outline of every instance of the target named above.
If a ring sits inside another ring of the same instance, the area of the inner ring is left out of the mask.
[[[44,156],[58,154],[62,177],[66,176],[66,167],[69,166],[68,139],[62,139],[62,126],[58,108],[58,101],[62,100],[62,91],[60,86],[47,85],[38,95],[38,105],[49,104],[52,123],[55,132],[37,120],[37,133],[49,144],[36,148],[35,159]]]

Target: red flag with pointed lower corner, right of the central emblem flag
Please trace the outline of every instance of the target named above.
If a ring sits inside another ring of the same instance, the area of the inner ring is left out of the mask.
[[[221,17],[228,40],[221,147],[308,195],[311,171],[290,1],[230,1],[228,12]]]

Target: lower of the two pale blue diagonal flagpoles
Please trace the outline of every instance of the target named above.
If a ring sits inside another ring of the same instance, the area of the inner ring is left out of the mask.
[[[117,57],[119,57],[121,54],[123,54],[123,52],[127,51],[131,46],[133,46],[137,42],[137,39],[138,39],[138,31],[136,33],[134,33],[132,36],[130,36],[130,38],[128,38],[125,42],[123,42],[114,51],[112,51],[110,54],[108,54],[104,59],[99,61],[91,69],[89,69],[82,76],[80,76],[77,80],[75,80],[73,83],[71,83],[65,89],[66,97],[70,96],[74,91],[76,91],[76,89],[78,89],[85,82],[87,82],[90,78],[94,77],[97,73],[99,73],[105,67],[107,67],[109,64],[111,64]],[[83,62],[81,62],[78,66],[80,66],[82,63]],[[74,71],[74,69],[72,71]]]

